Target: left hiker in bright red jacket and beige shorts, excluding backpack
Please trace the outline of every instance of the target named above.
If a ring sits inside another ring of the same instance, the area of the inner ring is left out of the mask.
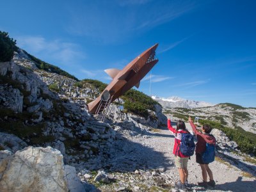
[[[186,125],[182,121],[177,122],[177,128],[174,129],[171,125],[171,120],[168,118],[167,120],[167,127],[175,136],[174,147],[173,147],[173,154],[175,155],[175,165],[179,170],[180,175],[180,182],[177,184],[177,188],[186,190],[188,186],[188,156],[184,156],[180,150],[180,141],[182,132],[188,132],[186,129]]]

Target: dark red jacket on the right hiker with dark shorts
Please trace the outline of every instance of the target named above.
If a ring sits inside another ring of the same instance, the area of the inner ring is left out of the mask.
[[[196,135],[197,143],[196,143],[196,154],[201,154],[205,151],[206,143],[211,145],[216,145],[216,139],[213,136],[209,136],[208,134],[204,134],[196,129],[196,126],[193,122],[190,122],[190,125],[193,129],[193,132]]]

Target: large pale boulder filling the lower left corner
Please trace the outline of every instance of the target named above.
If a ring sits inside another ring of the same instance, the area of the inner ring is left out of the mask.
[[[0,151],[0,191],[70,191],[95,189],[81,183],[72,166],[64,166],[59,150],[51,147],[27,147]]]

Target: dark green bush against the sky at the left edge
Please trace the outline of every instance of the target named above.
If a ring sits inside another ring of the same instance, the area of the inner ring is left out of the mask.
[[[13,52],[17,51],[16,40],[10,38],[8,33],[0,31],[0,62],[10,61],[13,58]]]

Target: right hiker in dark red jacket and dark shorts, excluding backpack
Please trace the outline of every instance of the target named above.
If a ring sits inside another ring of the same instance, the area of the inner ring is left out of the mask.
[[[196,129],[195,124],[193,124],[193,120],[189,116],[188,121],[193,129],[193,132],[196,135],[197,143],[196,143],[196,163],[200,164],[200,167],[202,169],[202,176],[203,176],[203,182],[198,182],[199,186],[204,186],[207,188],[207,186],[215,186],[215,181],[213,180],[212,171],[209,168],[208,163],[204,163],[202,161],[202,154],[205,152],[206,149],[206,143],[209,143],[211,145],[216,145],[216,139],[214,136],[210,135],[210,132],[212,131],[212,128],[210,125],[203,125],[202,132],[198,131]],[[210,181],[207,182],[207,174],[209,175]]]

